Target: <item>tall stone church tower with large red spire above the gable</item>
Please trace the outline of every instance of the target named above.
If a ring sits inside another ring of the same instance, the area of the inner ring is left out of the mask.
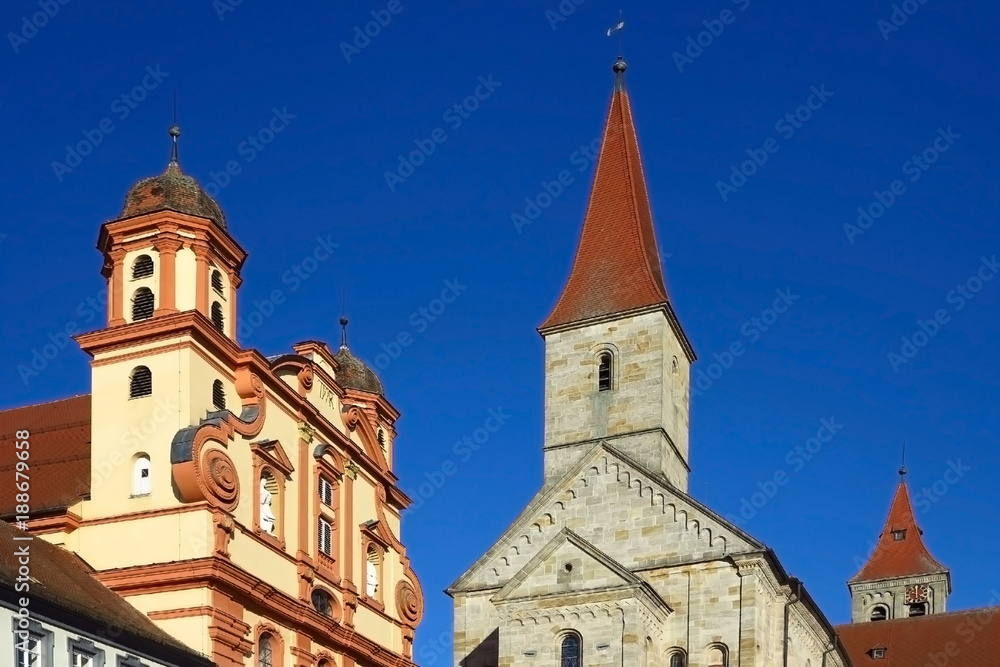
[[[545,339],[545,481],[605,441],[686,491],[694,350],[670,304],[625,90],[615,87],[569,280]]]

